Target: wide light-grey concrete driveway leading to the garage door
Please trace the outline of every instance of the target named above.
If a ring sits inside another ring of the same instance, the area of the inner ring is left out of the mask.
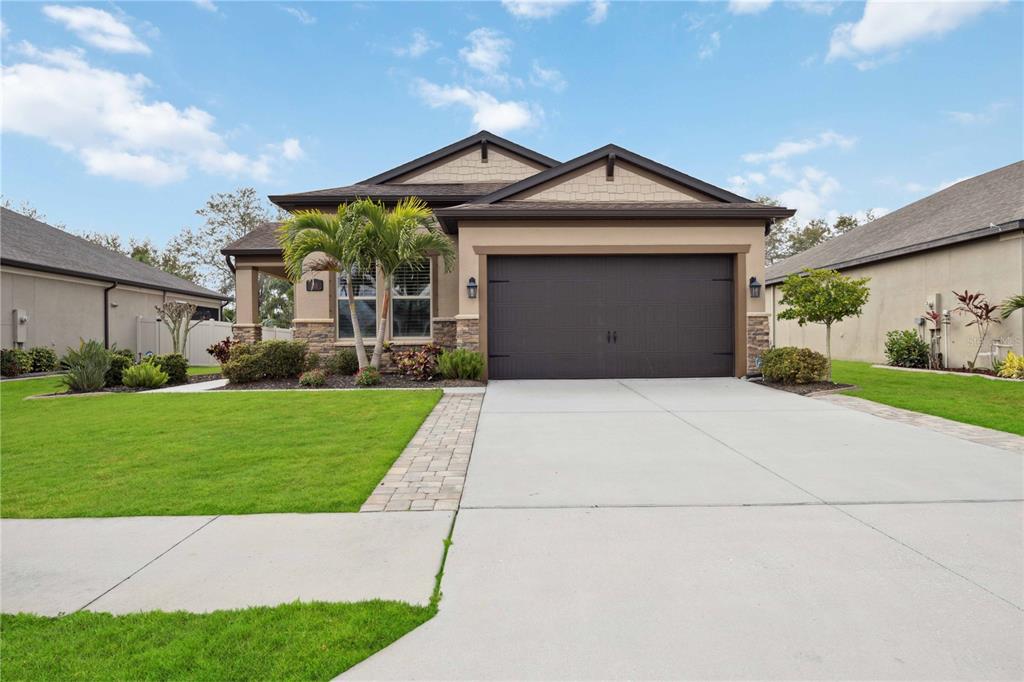
[[[494,382],[437,617],[352,679],[1021,679],[1024,460],[730,379]]]

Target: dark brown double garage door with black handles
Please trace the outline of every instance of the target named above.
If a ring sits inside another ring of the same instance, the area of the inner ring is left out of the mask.
[[[489,376],[731,376],[733,262],[731,255],[489,256]]]

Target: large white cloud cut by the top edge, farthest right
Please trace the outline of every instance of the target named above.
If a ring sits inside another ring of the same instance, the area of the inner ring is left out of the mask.
[[[1001,4],[1001,1],[884,2],[882,0],[867,0],[864,5],[864,14],[859,22],[841,24],[833,31],[827,59],[857,59],[879,52],[899,50],[923,38],[937,38],[996,4]],[[867,68],[878,66],[870,60],[863,63]]]

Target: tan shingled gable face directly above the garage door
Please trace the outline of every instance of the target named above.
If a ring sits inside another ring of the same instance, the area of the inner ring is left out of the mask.
[[[650,203],[717,200],[622,162],[615,163],[613,176],[608,178],[605,162],[598,161],[506,201]]]

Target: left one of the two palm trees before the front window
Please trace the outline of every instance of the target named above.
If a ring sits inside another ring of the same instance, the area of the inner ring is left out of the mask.
[[[278,242],[284,252],[285,272],[289,280],[298,282],[304,272],[310,270],[328,270],[345,278],[348,313],[352,321],[359,369],[367,367],[369,361],[355,311],[352,275],[373,267],[365,237],[364,221],[345,204],[340,205],[334,214],[299,211],[278,228]],[[307,263],[306,259],[314,254],[316,257]]]

